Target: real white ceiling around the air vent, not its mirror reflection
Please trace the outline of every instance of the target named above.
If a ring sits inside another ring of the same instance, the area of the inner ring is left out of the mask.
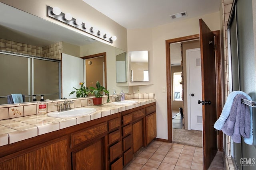
[[[218,12],[220,0],[83,0],[127,29],[150,28]],[[187,12],[184,18],[170,15]]]

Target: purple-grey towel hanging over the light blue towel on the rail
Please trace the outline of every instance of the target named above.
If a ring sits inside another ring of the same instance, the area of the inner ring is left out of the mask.
[[[246,99],[242,94],[236,95],[230,115],[222,127],[223,133],[232,137],[235,143],[241,143],[241,136],[250,137],[250,108],[243,104],[241,99]]]

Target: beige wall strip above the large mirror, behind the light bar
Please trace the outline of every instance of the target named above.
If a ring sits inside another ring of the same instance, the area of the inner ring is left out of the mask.
[[[107,16],[104,16],[101,12],[98,12],[82,0],[0,0],[0,2],[127,51],[126,28]],[[111,44],[74,27],[68,26],[65,23],[49,18],[47,17],[47,6],[58,6],[62,12],[70,13],[74,18],[81,18],[84,22],[86,21],[92,26],[104,29],[104,31],[110,33],[110,35],[116,35],[117,40]]]

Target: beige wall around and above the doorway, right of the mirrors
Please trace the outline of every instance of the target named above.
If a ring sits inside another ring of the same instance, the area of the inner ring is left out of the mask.
[[[149,70],[152,84],[140,86],[140,92],[152,92],[156,96],[157,137],[168,139],[166,88],[166,47],[165,40],[199,33],[199,19],[202,18],[214,31],[220,29],[219,12],[196,18],[184,19],[160,25],[151,29],[128,29],[128,51],[148,50]],[[153,64],[154,63],[154,64]]]

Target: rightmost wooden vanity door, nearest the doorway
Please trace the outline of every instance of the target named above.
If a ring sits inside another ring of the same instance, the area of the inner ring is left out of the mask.
[[[156,112],[146,116],[146,145],[156,137]]]

